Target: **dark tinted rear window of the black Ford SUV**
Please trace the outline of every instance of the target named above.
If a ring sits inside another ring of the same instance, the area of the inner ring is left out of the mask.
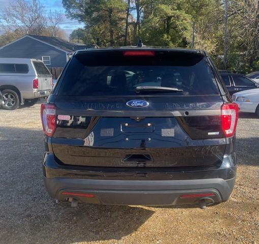
[[[215,78],[202,54],[157,51],[154,56],[124,56],[122,51],[77,53],[61,77],[58,95],[143,96],[138,86],[179,89],[152,95],[218,95]],[[145,92],[146,94],[146,92]]]

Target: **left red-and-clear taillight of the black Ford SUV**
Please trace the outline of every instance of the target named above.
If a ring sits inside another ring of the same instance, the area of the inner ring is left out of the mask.
[[[56,129],[56,106],[43,103],[41,105],[41,121],[44,134],[52,137]]]

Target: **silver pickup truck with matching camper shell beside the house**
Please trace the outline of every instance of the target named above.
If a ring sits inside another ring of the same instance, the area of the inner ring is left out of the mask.
[[[2,107],[17,109],[21,104],[33,105],[40,97],[49,96],[52,75],[42,60],[32,58],[0,58],[0,91]]]

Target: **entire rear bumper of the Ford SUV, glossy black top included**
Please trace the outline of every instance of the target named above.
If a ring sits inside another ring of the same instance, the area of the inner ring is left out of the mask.
[[[201,197],[182,198],[182,195],[209,193],[214,194],[209,197],[209,202],[219,203],[228,200],[234,188],[236,165],[230,159],[233,157],[224,157],[225,162],[215,170],[163,174],[158,171],[155,176],[154,173],[144,175],[135,172],[128,175],[75,167],[69,169],[69,166],[57,164],[54,156],[46,153],[43,172],[49,195],[60,201],[76,198],[79,202],[98,204],[180,205],[198,204],[201,200]],[[64,192],[91,194],[94,197],[63,195]]]

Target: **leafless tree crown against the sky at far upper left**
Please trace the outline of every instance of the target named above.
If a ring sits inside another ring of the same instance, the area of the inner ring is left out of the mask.
[[[45,8],[39,0],[15,0],[0,13],[2,24],[23,30],[23,34],[37,34],[46,26]]]

